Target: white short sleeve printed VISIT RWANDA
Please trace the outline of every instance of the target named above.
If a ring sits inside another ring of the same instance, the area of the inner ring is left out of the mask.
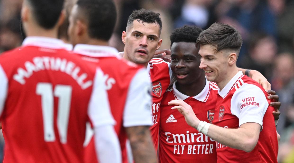
[[[263,125],[268,101],[263,91],[253,84],[245,83],[235,91],[231,99],[231,113],[239,118],[240,125],[253,122]]]

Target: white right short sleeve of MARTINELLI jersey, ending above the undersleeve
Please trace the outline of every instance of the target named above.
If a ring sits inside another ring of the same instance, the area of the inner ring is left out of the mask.
[[[93,90],[88,106],[88,116],[94,128],[101,125],[114,125],[115,123],[110,111],[106,85],[103,81],[103,72],[100,68],[96,69],[93,80]]]

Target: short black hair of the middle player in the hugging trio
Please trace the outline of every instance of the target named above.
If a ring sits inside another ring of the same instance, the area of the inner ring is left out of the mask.
[[[183,27],[176,28],[169,37],[171,40],[171,45],[173,45],[173,43],[179,42],[196,43],[197,38],[202,31],[203,30],[197,26],[185,25]]]

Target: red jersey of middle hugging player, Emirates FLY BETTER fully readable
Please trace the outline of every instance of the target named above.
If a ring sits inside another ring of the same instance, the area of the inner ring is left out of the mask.
[[[176,83],[176,82],[175,82]],[[206,80],[203,90],[189,97],[176,89],[168,89],[161,100],[158,156],[161,163],[216,162],[215,141],[188,125],[178,110],[172,110],[168,102],[180,99],[191,105],[196,116],[212,123],[218,87]]]

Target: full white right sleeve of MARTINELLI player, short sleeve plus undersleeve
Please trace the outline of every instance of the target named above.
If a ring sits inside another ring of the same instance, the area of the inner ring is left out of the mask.
[[[115,123],[110,111],[103,72],[96,69],[93,91],[88,107],[88,116],[93,124],[97,158],[100,163],[121,163],[121,148],[114,131]]]

